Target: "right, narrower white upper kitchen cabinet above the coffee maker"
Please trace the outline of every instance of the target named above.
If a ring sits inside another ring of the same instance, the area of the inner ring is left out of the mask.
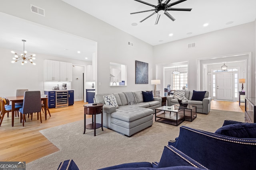
[[[60,81],[72,81],[72,63],[60,62]]]

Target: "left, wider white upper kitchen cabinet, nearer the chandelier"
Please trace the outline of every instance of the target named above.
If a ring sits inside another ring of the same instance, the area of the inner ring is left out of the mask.
[[[60,62],[44,60],[44,81],[60,80]]]

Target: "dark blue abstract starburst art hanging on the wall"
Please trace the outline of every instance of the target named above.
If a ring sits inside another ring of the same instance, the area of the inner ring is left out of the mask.
[[[136,65],[136,83],[135,84],[148,84],[148,63],[135,61]]]

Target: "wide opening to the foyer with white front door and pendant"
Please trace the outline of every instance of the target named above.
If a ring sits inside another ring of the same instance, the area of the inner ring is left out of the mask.
[[[209,91],[215,100],[238,101],[238,92],[242,89],[238,80],[245,79],[245,94],[249,97],[253,93],[251,56],[243,53],[198,60],[198,89]],[[228,66],[227,71],[221,70],[223,63]]]

